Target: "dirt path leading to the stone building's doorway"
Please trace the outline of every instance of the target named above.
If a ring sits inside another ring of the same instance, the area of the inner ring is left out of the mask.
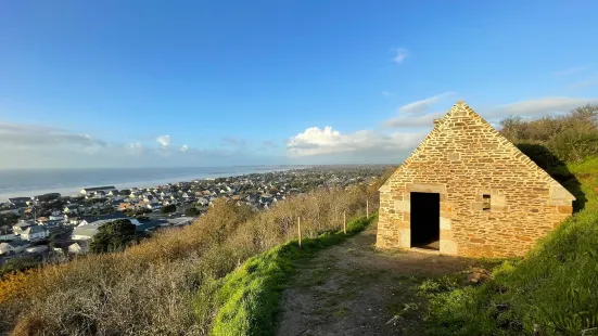
[[[371,225],[300,267],[282,294],[277,335],[422,334],[425,302],[413,287],[476,264],[429,254],[381,253],[374,242]]]

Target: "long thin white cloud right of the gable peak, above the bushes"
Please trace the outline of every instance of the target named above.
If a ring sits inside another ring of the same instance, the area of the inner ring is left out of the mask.
[[[485,116],[489,118],[506,117],[509,115],[546,115],[551,113],[564,113],[586,104],[596,103],[598,103],[597,98],[547,96],[502,105],[485,114]]]

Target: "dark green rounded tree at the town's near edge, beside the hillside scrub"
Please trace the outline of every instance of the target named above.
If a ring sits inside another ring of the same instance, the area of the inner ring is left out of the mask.
[[[94,254],[119,251],[135,240],[135,225],[128,219],[119,219],[100,227],[89,250]]]

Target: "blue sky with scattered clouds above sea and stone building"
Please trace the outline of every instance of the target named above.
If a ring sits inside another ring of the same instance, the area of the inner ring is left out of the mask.
[[[0,2],[10,167],[394,163],[598,102],[596,1]]]

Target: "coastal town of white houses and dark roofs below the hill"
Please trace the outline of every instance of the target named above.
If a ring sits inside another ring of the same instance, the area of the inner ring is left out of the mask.
[[[0,266],[20,257],[43,261],[85,254],[99,229],[115,220],[129,220],[137,234],[149,236],[156,230],[192,223],[219,198],[267,210],[317,188],[369,183],[389,168],[317,166],[152,188],[85,186],[69,196],[11,197],[0,203]]]

